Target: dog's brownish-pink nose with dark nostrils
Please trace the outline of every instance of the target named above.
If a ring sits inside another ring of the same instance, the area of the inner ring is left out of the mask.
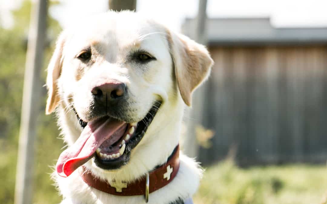
[[[95,86],[91,93],[96,102],[106,106],[108,103],[112,104],[123,98],[125,91],[126,85],[124,83],[113,82]]]

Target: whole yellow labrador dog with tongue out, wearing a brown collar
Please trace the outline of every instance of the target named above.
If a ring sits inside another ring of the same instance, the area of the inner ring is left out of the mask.
[[[212,65],[204,46],[130,11],[64,30],[46,82],[68,145],[54,174],[62,203],[191,203],[202,171],[179,135]]]

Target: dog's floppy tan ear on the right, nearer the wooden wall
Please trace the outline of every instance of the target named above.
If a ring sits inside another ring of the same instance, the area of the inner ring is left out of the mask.
[[[214,61],[205,46],[184,35],[167,32],[177,85],[183,101],[191,106],[193,91],[208,78]]]

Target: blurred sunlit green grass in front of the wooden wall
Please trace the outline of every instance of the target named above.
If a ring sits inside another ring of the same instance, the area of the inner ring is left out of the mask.
[[[238,168],[226,160],[208,167],[196,204],[322,204],[327,196],[324,165]]]

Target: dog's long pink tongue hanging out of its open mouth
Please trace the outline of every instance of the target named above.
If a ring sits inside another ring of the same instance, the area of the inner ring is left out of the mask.
[[[58,174],[62,177],[72,174],[91,159],[96,149],[124,124],[108,118],[88,122],[76,142],[60,154],[56,165]]]

